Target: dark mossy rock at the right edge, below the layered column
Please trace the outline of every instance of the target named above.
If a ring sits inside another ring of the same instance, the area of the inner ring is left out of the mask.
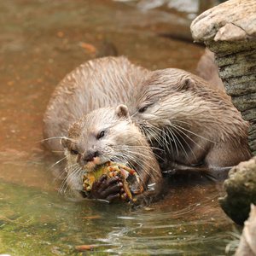
[[[236,224],[242,225],[251,203],[256,205],[256,157],[233,167],[229,176],[224,182],[227,195],[219,199],[220,206]]]

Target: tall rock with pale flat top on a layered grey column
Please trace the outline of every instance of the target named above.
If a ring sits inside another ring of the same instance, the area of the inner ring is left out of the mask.
[[[215,54],[227,94],[252,123],[249,143],[256,154],[256,1],[221,3],[195,18],[190,29],[195,41]]]

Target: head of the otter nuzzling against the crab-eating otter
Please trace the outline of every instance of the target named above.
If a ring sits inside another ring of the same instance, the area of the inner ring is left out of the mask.
[[[149,73],[137,84],[128,108],[132,119],[151,137],[172,126],[173,120],[183,120],[195,100],[195,81],[189,73],[168,68]]]

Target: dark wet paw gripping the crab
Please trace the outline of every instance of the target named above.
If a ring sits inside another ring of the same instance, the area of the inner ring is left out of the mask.
[[[103,174],[98,180],[92,183],[88,199],[114,201],[118,198],[127,201],[128,196],[125,194],[123,183],[120,182],[118,176],[113,176],[108,179],[106,174]]]

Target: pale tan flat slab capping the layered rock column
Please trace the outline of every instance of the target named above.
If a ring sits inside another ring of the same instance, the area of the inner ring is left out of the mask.
[[[255,39],[255,10],[255,0],[230,0],[221,3],[193,20],[192,36],[197,42]]]

